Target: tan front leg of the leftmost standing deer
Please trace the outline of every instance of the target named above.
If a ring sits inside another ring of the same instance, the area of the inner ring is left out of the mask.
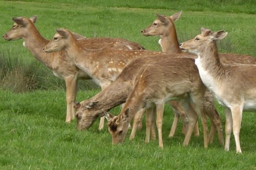
[[[75,118],[75,100],[78,89],[78,79],[77,76],[66,78],[66,102],[67,102],[67,114],[66,122],[70,123],[72,119]]]

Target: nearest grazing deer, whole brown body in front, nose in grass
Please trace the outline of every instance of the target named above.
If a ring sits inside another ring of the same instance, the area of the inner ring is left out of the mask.
[[[189,128],[185,136],[183,145],[187,145],[197,123],[198,114],[202,115],[204,128],[204,146],[207,147],[206,117],[204,115],[204,93],[205,86],[198,74],[198,69],[191,58],[170,57],[156,58],[155,63],[143,66],[138,72],[133,90],[129,94],[121,113],[108,119],[109,132],[112,136],[112,143],[123,141],[127,133],[128,125],[141,108],[149,109],[146,115],[146,139],[150,139],[150,127],[152,122],[153,107],[157,111],[157,129],[159,137],[159,147],[163,148],[162,141],[162,119],[164,103],[170,100],[180,100],[183,110],[189,119]],[[194,110],[194,107],[196,111]]]

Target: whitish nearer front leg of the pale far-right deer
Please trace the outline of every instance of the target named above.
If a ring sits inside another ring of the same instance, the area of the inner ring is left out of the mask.
[[[237,148],[238,154],[242,154],[241,147],[240,147],[240,140],[239,140],[239,134],[240,134],[241,123],[242,123],[242,113],[243,113],[242,106],[231,107],[231,114],[232,114],[232,120],[233,120],[233,135],[234,135],[234,140],[236,141],[236,148]]]

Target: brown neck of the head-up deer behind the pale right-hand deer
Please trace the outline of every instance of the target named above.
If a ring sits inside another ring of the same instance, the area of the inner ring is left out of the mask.
[[[182,53],[177,38],[175,27],[169,29],[165,34],[161,35],[162,52],[166,54]]]

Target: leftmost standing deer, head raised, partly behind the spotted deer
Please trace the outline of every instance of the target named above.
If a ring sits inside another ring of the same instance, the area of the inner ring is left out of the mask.
[[[66,102],[67,114],[66,122],[70,123],[75,118],[74,104],[78,90],[78,80],[91,79],[86,72],[79,69],[70,59],[66,56],[65,51],[59,51],[51,54],[42,52],[42,48],[49,42],[49,40],[42,37],[35,27],[34,23],[37,16],[27,17],[13,17],[14,24],[9,32],[3,38],[5,40],[23,39],[24,46],[39,60],[51,69],[55,76],[65,80],[66,83]],[[86,45],[88,48],[97,49],[104,46],[110,46],[123,49],[142,50],[140,44],[132,41],[127,41],[122,38],[85,38],[77,33],[72,33],[78,41]]]

